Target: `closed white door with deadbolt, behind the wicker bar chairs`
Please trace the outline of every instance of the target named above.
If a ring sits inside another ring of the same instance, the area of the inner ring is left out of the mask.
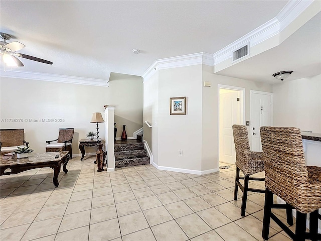
[[[261,152],[260,127],[272,126],[272,93],[251,91],[251,132],[253,152]]]

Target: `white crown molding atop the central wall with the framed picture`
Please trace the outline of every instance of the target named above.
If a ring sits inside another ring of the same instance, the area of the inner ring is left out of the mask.
[[[166,59],[157,59],[152,65],[142,74],[144,80],[148,79],[151,75],[157,70],[161,69],[170,69],[178,68],[184,66],[191,66],[197,64],[205,64],[213,66],[213,54],[209,53],[196,53],[196,54],[187,54],[182,56],[176,56]]]

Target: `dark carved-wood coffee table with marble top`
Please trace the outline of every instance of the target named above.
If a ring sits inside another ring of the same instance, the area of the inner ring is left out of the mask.
[[[0,175],[17,174],[34,168],[50,167],[54,169],[53,183],[59,186],[58,175],[61,165],[62,170],[67,173],[66,165],[69,161],[68,152],[47,152],[30,154],[28,158],[14,158],[0,161]]]

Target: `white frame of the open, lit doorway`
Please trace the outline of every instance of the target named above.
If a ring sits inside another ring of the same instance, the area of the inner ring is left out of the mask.
[[[245,125],[245,88],[218,84],[217,85],[217,166],[220,167],[220,89],[231,89],[240,91],[241,96],[241,125]]]

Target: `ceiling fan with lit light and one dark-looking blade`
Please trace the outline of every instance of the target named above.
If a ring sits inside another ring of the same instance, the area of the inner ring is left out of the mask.
[[[4,41],[0,41],[0,55],[3,61],[6,63],[6,65],[20,66],[20,67],[25,66],[17,57],[30,59],[30,60],[45,63],[45,64],[52,64],[51,61],[48,61],[45,59],[40,59],[27,54],[17,53],[16,51],[19,51],[25,48],[26,45],[18,41],[7,43],[6,40],[11,39],[11,35],[6,33],[0,33],[0,37],[4,40]]]

